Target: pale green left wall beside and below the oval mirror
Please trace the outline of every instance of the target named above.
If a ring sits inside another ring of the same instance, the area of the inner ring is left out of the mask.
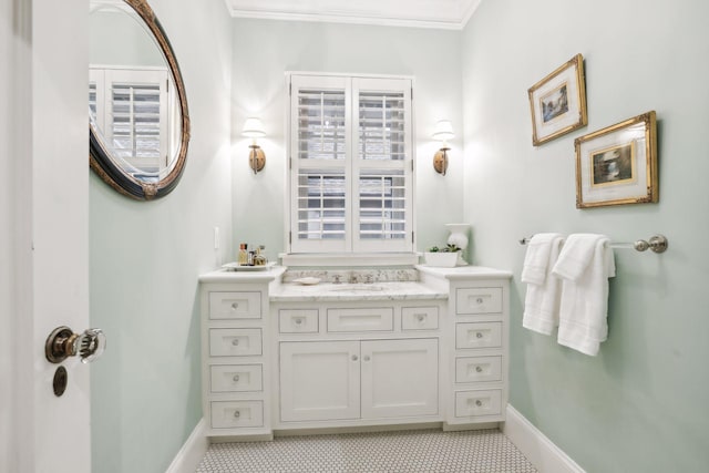
[[[163,199],[131,200],[91,175],[91,322],[107,336],[91,367],[94,473],[165,471],[202,419],[197,276],[223,263],[232,233],[230,19],[222,0],[151,6],[184,75],[192,140]]]

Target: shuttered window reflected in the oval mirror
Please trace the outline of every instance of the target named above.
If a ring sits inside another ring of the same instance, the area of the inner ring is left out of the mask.
[[[126,171],[160,174],[169,163],[176,104],[165,69],[91,68],[91,117]]]

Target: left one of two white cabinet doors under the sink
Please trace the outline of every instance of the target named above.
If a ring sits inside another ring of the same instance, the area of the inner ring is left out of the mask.
[[[359,419],[359,341],[281,342],[281,421]]]

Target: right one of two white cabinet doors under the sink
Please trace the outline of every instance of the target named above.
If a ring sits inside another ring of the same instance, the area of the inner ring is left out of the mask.
[[[362,418],[439,412],[438,339],[362,341]]]

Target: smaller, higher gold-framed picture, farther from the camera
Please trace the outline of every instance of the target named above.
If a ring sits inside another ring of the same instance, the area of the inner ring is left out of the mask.
[[[584,81],[584,58],[576,54],[530,89],[534,146],[586,126]]]

